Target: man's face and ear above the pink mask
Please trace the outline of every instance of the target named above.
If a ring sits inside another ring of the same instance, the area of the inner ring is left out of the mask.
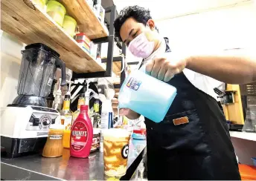
[[[129,46],[129,42],[135,39],[139,34],[144,33],[150,42],[155,42],[155,46],[159,41],[159,36],[155,30],[155,24],[152,19],[147,22],[148,26],[142,23],[136,22],[135,19],[129,18],[120,29],[120,36],[122,41]]]

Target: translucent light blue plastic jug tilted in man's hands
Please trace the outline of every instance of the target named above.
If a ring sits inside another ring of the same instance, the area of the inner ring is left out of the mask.
[[[129,108],[154,122],[161,122],[176,94],[176,88],[147,75],[143,66],[124,80],[118,96],[118,107]]]

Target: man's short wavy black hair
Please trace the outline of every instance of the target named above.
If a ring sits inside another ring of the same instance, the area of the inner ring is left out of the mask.
[[[133,18],[136,20],[136,22],[142,23],[146,26],[147,21],[149,19],[152,19],[150,16],[150,10],[146,10],[144,7],[139,6],[129,6],[125,7],[121,12],[119,13],[119,16],[117,19],[115,19],[114,27],[115,27],[115,37],[118,38],[119,41],[122,42],[121,36],[120,36],[120,29],[121,26],[124,24],[124,22],[129,19]],[[156,29],[157,30],[157,29]]]

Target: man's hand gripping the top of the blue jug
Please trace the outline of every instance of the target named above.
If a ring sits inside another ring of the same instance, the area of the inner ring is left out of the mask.
[[[150,76],[164,82],[170,81],[177,73],[188,65],[188,58],[155,58],[146,65],[146,71]]]

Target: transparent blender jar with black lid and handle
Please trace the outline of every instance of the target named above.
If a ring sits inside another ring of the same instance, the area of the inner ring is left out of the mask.
[[[65,63],[59,54],[43,44],[32,44],[22,51],[22,64],[19,70],[17,93],[13,104],[39,105],[47,107],[45,98],[51,92],[51,85],[57,66],[62,68],[65,85]]]

